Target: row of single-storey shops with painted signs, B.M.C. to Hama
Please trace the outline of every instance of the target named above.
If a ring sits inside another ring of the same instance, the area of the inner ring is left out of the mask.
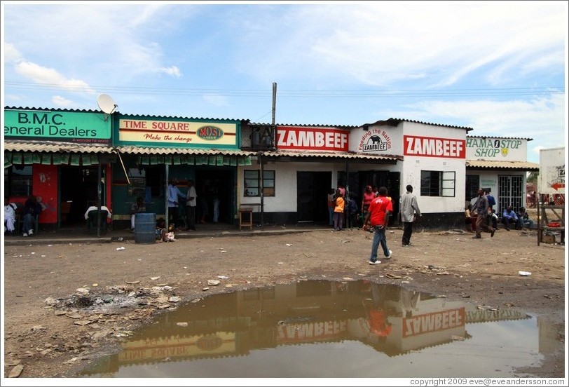
[[[270,125],[247,119],[139,116],[114,112],[4,109],[4,200],[39,198],[41,229],[84,224],[100,199],[115,228],[130,226],[130,206],[167,219],[170,179],[188,180],[219,222],[236,224],[254,208],[263,224],[327,224],[327,194],[343,184],[361,203],[368,184],[398,198],[411,184],[423,222],[463,228],[465,201],[490,189],[497,210],[526,203],[531,139],[476,137],[472,128],[399,118],[345,125]],[[182,202],[183,203],[183,202]],[[397,216],[391,222],[398,224]]]

